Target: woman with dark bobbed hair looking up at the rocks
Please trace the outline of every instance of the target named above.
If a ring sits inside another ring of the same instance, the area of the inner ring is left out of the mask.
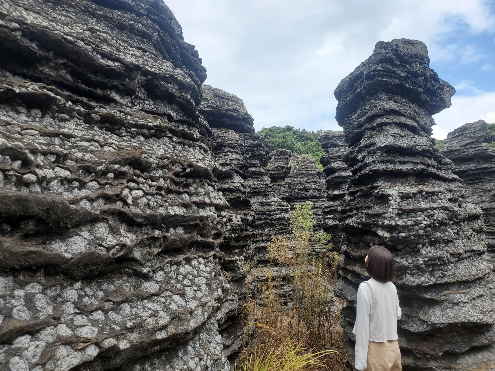
[[[402,370],[397,344],[397,320],[402,312],[396,286],[394,256],[383,246],[372,246],[364,259],[370,279],[357,290],[355,367],[366,371]]]

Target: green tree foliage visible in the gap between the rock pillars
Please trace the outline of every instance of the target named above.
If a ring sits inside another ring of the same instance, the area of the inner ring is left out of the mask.
[[[321,148],[318,137],[323,130],[316,132],[308,132],[305,129],[296,129],[290,125],[282,128],[280,126],[272,126],[271,128],[263,128],[257,134],[264,138],[268,144],[268,148],[273,151],[279,148],[285,148],[294,153],[307,154],[314,158],[318,168],[323,170],[320,164],[320,157],[325,155]]]

